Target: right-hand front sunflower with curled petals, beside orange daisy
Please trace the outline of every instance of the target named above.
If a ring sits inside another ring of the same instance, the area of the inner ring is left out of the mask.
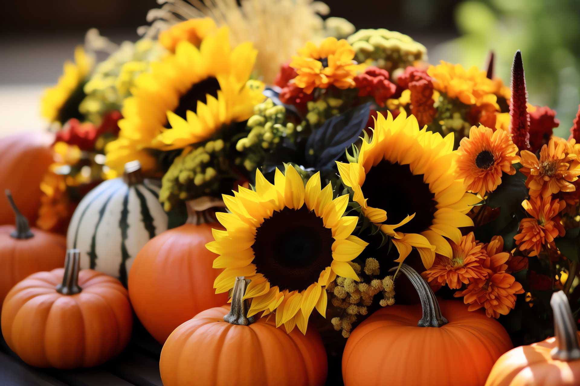
[[[456,181],[452,167],[453,134],[419,130],[414,116],[401,112],[393,120],[380,113],[370,142],[362,141],[356,163],[340,163],[343,183],[354,192],[362,214],[380,227],[402,263],[418,249],[429,269],[435,253],[452,258],[444,237],[461,243],[458,227],[473,226],[466,213],[480,201]],[[397,225],[386,225],[387,214]]]

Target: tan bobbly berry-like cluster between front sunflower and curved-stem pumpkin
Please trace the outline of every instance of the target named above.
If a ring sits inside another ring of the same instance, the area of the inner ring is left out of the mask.
[[[351,263],[351,266],[357,275],[361,273],[360,265]],[[393,277],[387,276],[383,280],[372,278],[380,274],[379,262],[374,258],[368,258],[363,270],[371,277],[369,283],[356,282],[351,278],[338,276],[327,287],[327,291],[332,294],[332,305],[344,310],[341,317],[332,318],[331,322],[336,331],[342,330],[342,336],[345,338],[349,337],[352,325],[357,321],[356,315],[367,315],[367,307],[372,304],[377,293],[383,294],[383,299],[379,302],[380,306],[392,306],[395,302]]]

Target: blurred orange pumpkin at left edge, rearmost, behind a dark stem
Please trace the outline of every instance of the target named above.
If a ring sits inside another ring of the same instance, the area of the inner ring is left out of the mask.
[[[41,202],[40,183],[53,163],[47,133],[22,133],[0,138],[0,192],[10,189],[19,199],[20,210],[34,224]],[[0,224],[12,224],[14,215],[8,203],[0,200]]]

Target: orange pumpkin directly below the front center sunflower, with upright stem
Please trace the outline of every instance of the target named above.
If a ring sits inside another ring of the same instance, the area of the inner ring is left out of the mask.
[[[327,356],[316,329],[287,334],[273,318],[246,318],[249,280],[237,277],[230,307],[195,315],[171,333],[159,368],[165,386],[318,386]],[[229,313],[228,313],[229,311]]]

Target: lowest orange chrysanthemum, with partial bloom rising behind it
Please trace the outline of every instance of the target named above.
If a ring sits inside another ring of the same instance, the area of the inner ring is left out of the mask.
[[[503,239],[495,236],[487,245],[488,258],[481,265],[487,271],[487,278],[473,280],[465,291],[455,292],[455,297],[463,296],[463,303],[469,304],[469,311],[485,307],[488,318],[507,315],[516,306],[516,293],[524,289],[516,279],[505,272],[509,253],[502,252]]]

